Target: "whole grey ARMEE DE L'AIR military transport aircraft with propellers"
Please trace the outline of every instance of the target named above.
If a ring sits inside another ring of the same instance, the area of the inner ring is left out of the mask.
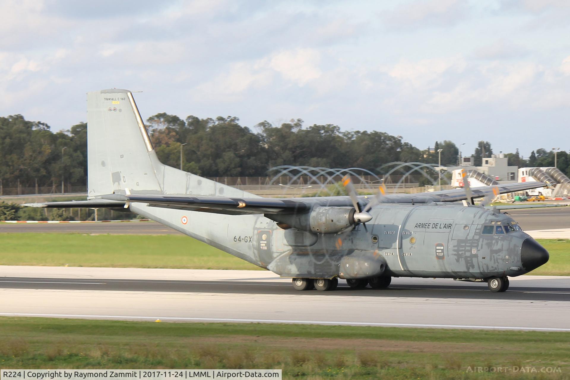
[[[473,199],[542,182],[348,197],[268,199],[162,164],[131,91],[87,94],[87,201],[32,207],[102,207],[137,213],[283,277],[295,289],[386,288],[392,277],[487,281],[530,272],[548,252],[500,208]],[[459,203],[458,203],[459,202]],[[513,206],[507,206],[513,208]],[[168,249],[165,247],[165,249]]]

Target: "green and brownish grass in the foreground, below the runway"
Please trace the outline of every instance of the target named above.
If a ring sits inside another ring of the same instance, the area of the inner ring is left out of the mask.
[[[570,333],[561,332],[0,318],[2,368],[275,368],[288,379],[514,379],[467,367],[552,366],[561,372],[542,378],[561,379],[570,373],[568,352]]]

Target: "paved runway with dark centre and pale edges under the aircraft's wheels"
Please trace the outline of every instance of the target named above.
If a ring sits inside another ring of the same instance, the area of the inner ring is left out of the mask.
[[[0,267],[0,315],[124,320],[569,330],[570,277],[393,279],[389,289],[297,292],[267,271]]]

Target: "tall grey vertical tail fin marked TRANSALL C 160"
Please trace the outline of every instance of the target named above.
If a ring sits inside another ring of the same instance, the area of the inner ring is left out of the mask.
[[[163,165],[146,132],[131,91],[87,93],[88,198],[107,194],[195,194],[257,197]]]

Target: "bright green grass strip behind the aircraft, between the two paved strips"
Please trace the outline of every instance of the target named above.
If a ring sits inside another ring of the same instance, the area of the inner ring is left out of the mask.
[[[260,269],[178,235],[1,234],[1,265]],[[538,240],[550,260],[532,275],[570,276],[570,240]]]

